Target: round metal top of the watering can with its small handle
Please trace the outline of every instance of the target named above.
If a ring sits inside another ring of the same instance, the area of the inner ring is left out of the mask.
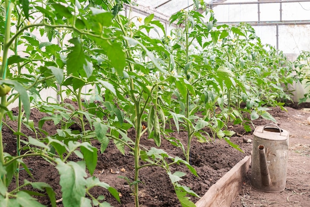
[[[253,135],[266,140],[284,141],[288,139],[289,131],[281,129],[275,124],[266,124],[265,126],[258,126]]]

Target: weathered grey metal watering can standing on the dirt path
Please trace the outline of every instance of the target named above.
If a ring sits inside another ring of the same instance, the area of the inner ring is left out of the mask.
[[[283,191],[286,183],[289,131],[275,124],[267,124],[258,126],[253,135],[251,185],[265,192]]]

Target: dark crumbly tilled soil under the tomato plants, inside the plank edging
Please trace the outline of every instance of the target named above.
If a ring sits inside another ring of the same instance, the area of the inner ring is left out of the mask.
[[[292,105],[295,106],[295,105]],[[297,105],[300,106],[300,105]],[[296,106],[295,106],[296,107]],[[305,107],[305,106],[304,106]],[[310,105],[308,105],[310,107]],[[287,121],[290,117],[290,111],[300,111],[300,109],[294,109],[286,107],[288,112],[282,111],[280,108],[272,108],[269,110],[276,119],[281,121]],[[13,113],[17,114],[17,109],[12,109]],[[38,121],[46,116],[45,113],[32,109],[30,119],[33,119],[35,125],[38,126]],[[292,121],[294,117],[291,118]],[[306,117],[307,119],[307,117]],[[254,122],[255,126],[265,125],[270,123],[268,120],[257,119]],[[7,124],[16,130],[17,125],[15,122],[8,121]],[[281,123],[282,124],[282,123]],[[179,182],[182,185],[188,186],[196,192],[199,196],[203,196],[208,188],[214,184],[219,178],[221,178],[226,172],[228,172],[237,162],[239,162],[246,155],[252,153],[252,144],[245,143],[244,139],[251,139],[252,133],[246,133],[244,128],[240,125],[229,126],[230,130],[236,132],[236,135],[231,137],[231,141],[240,146],[244,151],[240,151],[230,147],[224,140],[210,141],[209,143],[200,143],[195,139],[192,141],[191,149],[191,164],[197,170],[199,177],[194,176],[185,165],[171,166],[172,173],[175,171],[186,172],[187,175],[183,177],[183,181]],[[281,125],[281,127],[283,127]],[[56,133],[56,126],[50,122],[46,122],[43,129],[50,134]],[[309,128],[308,128],[309,129]],[[254,130],[254,128],[253,128]],[[26,127],[23,127],[22,132],[26,135],[34,136]],[[4,150],[6,153],[16,154],[16,138],[12,132],[3,126],[3,142],[5,143]],[[133,136],[134,131],[129,130],[128,136]],[[309,135],[309,134],[308,134]],[[181,140],[186,143],[186,132],[172,133],[172,137]],[[92,144],[100,149],[99,142],[92,142]],[[141,140],[141,145],[150,148],[155,147],[153,140],[149,140],[146,137]],[[160,146],[161,149],[166,151],[171,156],[179,156],[184,158],[181,149],[172,146],[167,140],[163,139]],[[99,150],[100,152],[100,150]],[[74,157],[72,158],[74,159]],[[56,193],[56,200],[61,199],[61,189],[59,186],[59,175],[55,167],[39,157],[29,157],[23,159],[29,168],[35,179],[32,179],[24,170],[20,171],[20,183],[23,183],[24,179],[29,181],[46,182],[52,186]],[[98,154],[98,164],[95,170],[95,176],[101,181],[108,183],[120,193],[121,204],[119,204],[106,190],[102,188],[96,188],[93,190],[95,197],[104,195],[106,202],[115,207],[132,207],[134,205],[134,197],[132,195],[132,189],[121,177],[127,177],[131,181],[134,177],[134,159],[130,152],[126,151],[125,155],[122,155],[115,145],[111,142],[103,154]],[[166,172],[159,167],[145,167],[140,171],[139,183],[139,199],[142,207],[179,207],[180,204],[174,193],[173,186]],[[245,184],[248,181],[245,181]],[[40,203],[49,206],[49,200],[46,197],[39,197]],[[199,198],[191,197],[191,201],[197,202]],[[235,207],[241,204],[235,204]],[[62,203],[57,203],[58,207],[62,207]]]

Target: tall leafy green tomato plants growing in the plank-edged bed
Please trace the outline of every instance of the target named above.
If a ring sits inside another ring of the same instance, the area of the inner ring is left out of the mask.
[[[130,0],[1,0],[0,119],[3,124],[6,118],[17,121],[18,127],[11,129],[16,155],[4,153],[0,133],[0,206],[42,206],[32,197],[37,192],[24,190],[27,185],[45,190],[56,206],[47,183],[19,183],[21,166],[31,175],[23,162],[29,156],[44,157],[58,169],[65,207],[107,205],[103,196],[91,195],[94,186],[120,201],[114,188],[92,176],[98,151],[93,140],[101,143],[101,153],[113,142],[120,152],[126,147],[134,156],[136,207],[139,170],[146,166],[164,168],[181,205],[195,206],[187,196],[198,195],[178,183],[184,173],[169,168],[183,164],[197,175],[190,164],[191,141],[225,139],[240,150],[229,140],[234,132],[228,124],[242,124],[249,132],[259,116],[275,121],[267,106],[282,107],[290,100],[289,85],[305,77],[301,70],[294,75],[293,63],[262,44],[250,25],[218,25],[206,5],[194,2],[204,14],[177,12],[170,23],[178,27],[166,34],[154,14],[143,21],[122,15]],[[150,37],[150,31],[158,37]],[[45,100],[46,90],[57,97]],[[8,109],[16,102],[17,117]],[[33,107],[47,113],[38,126],[29,119]],[[42,129],[48,120],[58,127],[56,134]],[[23,134],[22,124],[37,136]],[[71,130],[74,124],[80,130]],[[130,128],[134,137],[127,136]],[[187,143],[171,137],[172,129],[186,130]],[[153,148],[140,146],[144,134],[155,141]],[[184,157],[160,149],[162,139],[181,148]],[[81,160],[69,161],[71,155]],[[13,177],[15,188],[9,189]]]

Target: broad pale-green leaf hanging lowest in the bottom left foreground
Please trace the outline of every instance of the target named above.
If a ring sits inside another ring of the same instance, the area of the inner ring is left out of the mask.
[[[85,197],[86,194],[86,180],[87,177],[85,172],[85,162],[69,161],[68,163],[63,163],[58,160],[56,166],[59,174],[62,192],[62,204],[65,207],[80,207],[81,199]]]

